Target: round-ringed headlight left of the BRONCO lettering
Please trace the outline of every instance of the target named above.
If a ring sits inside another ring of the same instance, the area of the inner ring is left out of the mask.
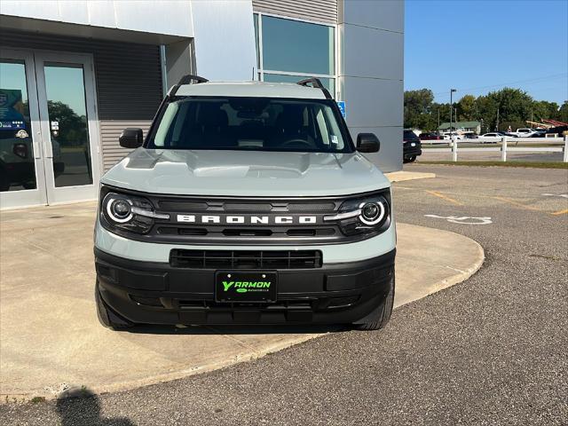
[[[103,196],[100,219],[111,231],[148,233],[154,225],[154,219],[170,219],[170,215],[155,212],[152,203],[145,198],[109,192]]]

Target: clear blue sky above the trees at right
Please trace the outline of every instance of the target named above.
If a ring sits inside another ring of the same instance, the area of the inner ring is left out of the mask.
[[[406,0],[405,90],[568,100],[568,0]],[[492,86],[492,87],[487,87]]]

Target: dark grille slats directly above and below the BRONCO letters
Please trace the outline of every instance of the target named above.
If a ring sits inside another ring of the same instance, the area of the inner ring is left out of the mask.
[[[345,241],[337,224],[322,222],[324,215],[337,212],[343,198],[336,200],[320,198],[258,199],[210,197],[175,197],[154,195],[151,197],[156,210],[170,214],[171,220],[159,221],[148,233],[148,238],[176,244],[238,244],[238,245],[296,245],[333,244]],[[177,215],[195,215],[193,223],[176,220]],[[240,224],[201,223],[201,215],[224,217],[236,215],[245,217]],[[272,217],[317,216],[316,223],[276,224]],[[247,217],[267,217],[266,224],[250,223]]]

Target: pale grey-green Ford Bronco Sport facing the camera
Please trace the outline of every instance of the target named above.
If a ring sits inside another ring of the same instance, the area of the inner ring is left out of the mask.
[[[317,79],[186,75],[101,180],[99,319],[383,327],[394,298],[390,183]]]

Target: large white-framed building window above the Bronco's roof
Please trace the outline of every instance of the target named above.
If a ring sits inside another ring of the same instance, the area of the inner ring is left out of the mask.
[[[256,61],[264,82],[318,77],[335,94],[335,27],[255,13]]]

